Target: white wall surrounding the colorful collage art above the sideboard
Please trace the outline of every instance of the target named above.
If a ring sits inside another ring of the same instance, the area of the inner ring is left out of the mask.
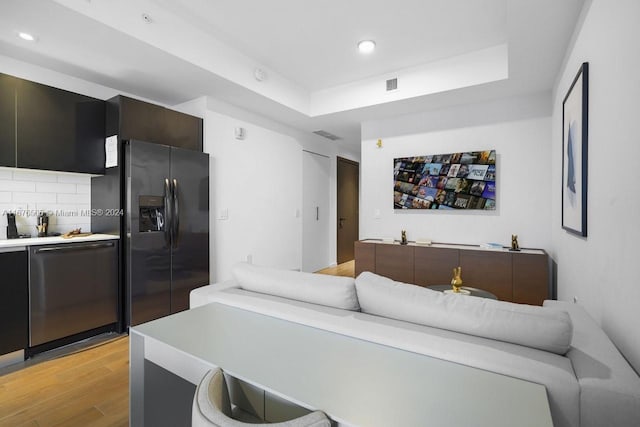
[[[364,123],[360,237],[399,239],[406,229],[409,240],[507,245],[517,234],[523,247],[548,249],[548,104],[537,94]],[[394,158],[488,149],[497,152],[496,211],[393,209]]]

